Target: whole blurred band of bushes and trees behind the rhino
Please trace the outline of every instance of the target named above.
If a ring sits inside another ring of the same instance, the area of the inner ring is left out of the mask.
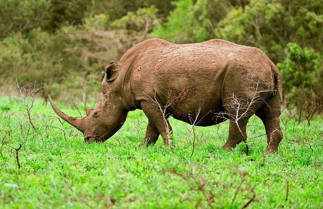
[[[259,47],[280,63],[289,107],[304,101],[317,107],[300,108],[301,118],[313,110],[322,113],[320,0],[1,0],[0,5],[3,94],[18,79],[43,83],[52,95],[82,95],[84,101],[99,89],[102,66],[118,62],[144,39],[223,38]],[[295,96],[300,92],[306,96]]]

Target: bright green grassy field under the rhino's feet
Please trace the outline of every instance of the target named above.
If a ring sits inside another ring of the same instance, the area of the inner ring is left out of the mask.
[[[308,127],[283,115],[284,139],[271,155],[264,154],[261,121],[251,118],[246,155],[246,144],[222,149],[228,123],[196,127],[193,152],[191,127],[174,119],[175,147],[161,139],[139,147],[147,122],[142,111],[129,113],[106,142],[86,144],[41,100],[31,115],[36,131],[16,100],[1,97],[0,108],[0,208],[323,207],[321,118]]]

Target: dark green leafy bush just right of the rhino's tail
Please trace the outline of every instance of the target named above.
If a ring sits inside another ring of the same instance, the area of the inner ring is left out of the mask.
[[[297,43],[287,44],[287,58],[278,63],[283,75],[287,105],[296,107],[299,119],[323,113],[323,56]]]

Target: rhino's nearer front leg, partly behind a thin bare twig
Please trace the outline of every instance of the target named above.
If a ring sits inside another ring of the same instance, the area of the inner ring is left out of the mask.
[[[172,133],[172,127],[168,122],[167,113],[164,111],[164,107],[160,103],[156,104],[155,101],[142,101],[140,102],[141,108],[148,118],[148,135],[152,134],[153,140],[157,140],[158,135],[155,137],[156,133],[159,133],[163,137],[165,146],[171,145],[171,140],[169,139]],[[151,125],[149,128],[149,124]],[[150,129],[152,132],[150,132]],[[147,132],[146,136],[147,137]],[[151,137],[151,135],[150,135]]]

